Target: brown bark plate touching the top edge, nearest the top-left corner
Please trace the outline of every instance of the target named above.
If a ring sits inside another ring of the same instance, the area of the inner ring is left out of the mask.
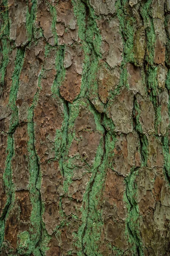
[[[25,0],[8,0],[9,18],[11,20],[10,39],[16,46],[25,45],[28,42],[26,32],[27,3]]]

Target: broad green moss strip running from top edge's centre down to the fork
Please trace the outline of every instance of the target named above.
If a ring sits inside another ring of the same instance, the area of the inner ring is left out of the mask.
[[[91,100],[99,100],[96,76],[99,59],[102,58],[100,51],[102,36],[96,24],[97,16],[89,1],[85,3],[79,2],[72,1],[74,14],[77,17],[78,34],[82,41],[82,49],[85,55],[79,97],[84,97],[85,92],[88,90],[88,96]],[[85,17],[87,18],[86,20]]]

